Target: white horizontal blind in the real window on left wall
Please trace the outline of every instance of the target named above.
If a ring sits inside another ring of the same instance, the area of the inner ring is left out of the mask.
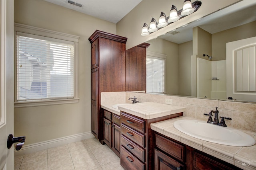
[[[74,98],[74,42],[16,33],[16,100]]]

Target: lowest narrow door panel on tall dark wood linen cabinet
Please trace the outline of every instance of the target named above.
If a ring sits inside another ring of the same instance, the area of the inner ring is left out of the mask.
[[[98,139],[98,104],[92,100],[92,134]]]

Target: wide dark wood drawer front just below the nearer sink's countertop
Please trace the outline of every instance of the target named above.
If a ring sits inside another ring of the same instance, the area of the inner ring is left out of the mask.
[[[158,134],[156,135],[156,147],[158,147],[161,150],[164,150],[164,152],[170,154],[174,158],[177,158],[178,160],[184,162],[184,155],[185,155],[185,147],[171,141],[169,139],[166,139],[165,137],[162,137]]]

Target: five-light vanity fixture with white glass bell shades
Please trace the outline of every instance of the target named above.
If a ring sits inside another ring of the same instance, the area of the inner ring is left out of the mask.
[[[150,33],[153,33],[158,29],[161,29],[162,27],[165,27],[175,21],[178,21],[181,18],[184,18],[189,14],[192,14],[193,12],[196,12],[200,8],[201,4],[202,2],[198,0],[193,2],[192,4],[191,0],[185,0],[183,9],[179,11],[177,11],[176,6],[172,5],[169,17],[166,17],[164,12],[161,12],[159,22],[157,23],[157,21],[154,18],[152,18],[150,22],[150,27],[148,27],[148,24],[144,23],[142,27],[142,33],[140,35],[149,35]]]

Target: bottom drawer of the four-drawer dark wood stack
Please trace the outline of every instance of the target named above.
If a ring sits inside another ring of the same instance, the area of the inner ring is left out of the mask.
[[[129,153],[123,146],[121,146],[120,164],[126,170],[144,170],[145,164],[140,162],[135,156]]]

